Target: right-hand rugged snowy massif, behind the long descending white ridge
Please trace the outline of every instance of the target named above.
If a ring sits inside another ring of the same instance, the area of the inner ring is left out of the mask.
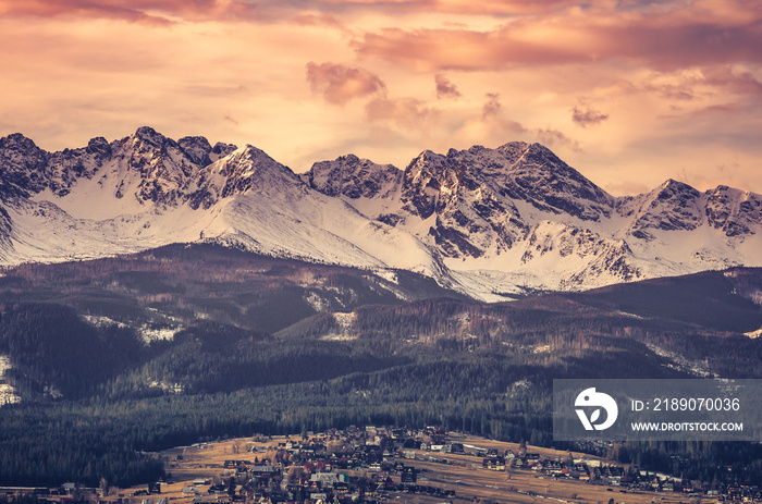
[[[342,157],[316,163],[305,179],[417,236],[462,288],[483,299],[762,266],[762,198],[751,193],[721,186],[702,194],[667,181],[614,198],[526,143],[425,151],[398,176],[390,171]],[[368,184],[372,194],[357,190]]]

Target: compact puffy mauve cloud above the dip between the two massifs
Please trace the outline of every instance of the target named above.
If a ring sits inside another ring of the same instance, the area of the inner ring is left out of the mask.
[[[312,93],[322,95],[333,105],[345,105],[354,98],[384,94],[386,85],[365,69],[353,69],[336,63],[307,63],[307,81]]]

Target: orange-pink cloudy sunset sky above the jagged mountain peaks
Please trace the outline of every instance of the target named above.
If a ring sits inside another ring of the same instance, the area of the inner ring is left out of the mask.
[[[762,193],[759,0],[0,0],[0,136],[143,125],[295,172],[539,142],[613,195]]]

